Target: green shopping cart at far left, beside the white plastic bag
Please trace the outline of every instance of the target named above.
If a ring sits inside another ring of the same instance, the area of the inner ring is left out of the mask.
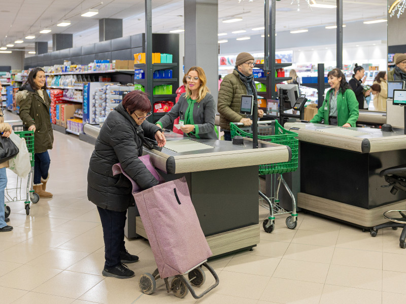
[[[12,126],[15,134],[25,139],[28,153],[30,154],[31,170],[27,178],[16,177],[15,187],[7,185],[5,189],[5,202],[24,201],[25,213],[29,214],[30,202],[38,203],[40,197],[32,189],[33,173],[34,173],[34,134],[33,131],[23,131],[23,125]],[[12,180],[14,182],[14,179]],[[6,206],[6,212],[10,214],[10,207]]]

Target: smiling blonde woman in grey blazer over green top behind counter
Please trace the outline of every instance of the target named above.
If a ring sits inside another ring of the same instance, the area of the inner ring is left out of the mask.
[[[180,118],[180,130],[192,138],[217,139],[214,130],[216,103],[208,87],[205,71],[192,66],[183,77],[186,92],[156,125],[165,128]]]

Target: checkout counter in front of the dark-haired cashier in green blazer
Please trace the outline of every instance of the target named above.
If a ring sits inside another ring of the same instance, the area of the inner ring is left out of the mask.
[[[299,208],[364,229],[386,222],[387,210],[405,209],[406,193],[392,195],[381,170],[406,163],[403,129],[343,128],[286,123],[298,133]]]

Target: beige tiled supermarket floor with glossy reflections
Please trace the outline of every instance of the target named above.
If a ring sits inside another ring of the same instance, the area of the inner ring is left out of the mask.
[[[12,119],[12,118],[9,118]],[[200,300],[167,294],[162,280],[153,295],[138,287],[138,277],[152,272],[148,242],[127,240],[140,256],[128,266],[127,280],[101,276],[104,244],[95,206],[87,201],[86,173],[92,146],[75,135],[54,132],[51,150],[52,199],[31,205],[8,203],[13,232],[0,234],[0,303],[8,304],[275,304],[405,303],[406,249],[398,247],[400,230],[376,238],[359,229],[299,213],[296,230],[278,217],[272,234],[260,230],[260,244],[212,260],[220,285]],[[13,174],[9,174],[10,182]],[[267,214],[260,208],[259,218]],[[207,274],[202,288],[213,283]]]

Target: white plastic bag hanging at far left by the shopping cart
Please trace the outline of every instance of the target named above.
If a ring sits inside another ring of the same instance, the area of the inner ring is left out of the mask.
[[[15,158],[9,160],[9,168],[19,177],[26,178],[31,170],[31,163],[25,139],[15,133],[10,134],[10,139],[18,147],[19,153]]]

